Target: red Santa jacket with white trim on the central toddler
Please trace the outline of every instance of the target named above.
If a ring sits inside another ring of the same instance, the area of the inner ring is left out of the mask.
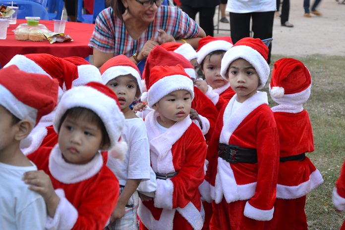
[[[198,186],[204,179],[205,139],[189,116],[161,134],[157,116],[152,111],[145,119],[152,169],[155,173],[177,175],[168,180],[157,179],[154,201],[140,203],[138,215],[150,230],[172,230],[177,211],[195,230],[200,230],[203,216]]]

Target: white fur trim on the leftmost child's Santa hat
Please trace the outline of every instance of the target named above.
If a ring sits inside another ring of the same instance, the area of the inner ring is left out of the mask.
[[[10,76],[9,76],[10,77]],[[27,119],[36,125],[38,110],[18,100],[9,90],[0,85],[0,105],[20,120]],[[6,98],[6,99],[3,99]]]

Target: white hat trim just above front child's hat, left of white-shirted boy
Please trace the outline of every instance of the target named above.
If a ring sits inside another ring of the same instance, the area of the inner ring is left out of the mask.
[[[94,65],[79,65],[78,78],[72,82],[74,86],[83,86],[89,82],[102,83],[101,73]]]

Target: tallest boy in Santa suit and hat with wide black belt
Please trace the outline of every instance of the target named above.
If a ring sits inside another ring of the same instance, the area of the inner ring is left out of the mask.
[[[264,230],[276,199],[279,138],[262,89],[268,79],[268,48],[244,38],[222,59],[221,74],[236,94],[219,113],[207,158],[207,191],[214,200],[210,229]],[[207,184],[210,183],[210,184]],[[207,194],[202,194],[207,197]]]

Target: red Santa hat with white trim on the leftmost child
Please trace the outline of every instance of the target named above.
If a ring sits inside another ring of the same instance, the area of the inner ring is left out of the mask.
[[[18,87],[18,83],[25,87]],[[0,105],[35,126],[58,102],[58,81],[47,75],[20,71],[11,65],[0,70]]]

